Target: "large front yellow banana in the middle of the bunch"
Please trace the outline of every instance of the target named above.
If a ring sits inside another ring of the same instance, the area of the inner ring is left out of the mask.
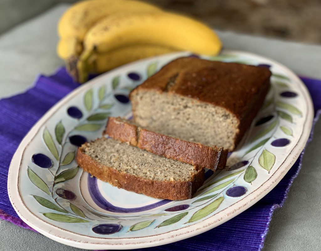
[[[157,44],[208,55],[221,50],[221,41],[211,28],[168,12],[116,13],[97,22],[84,38],[84,50],[97,53],[132,44]]]

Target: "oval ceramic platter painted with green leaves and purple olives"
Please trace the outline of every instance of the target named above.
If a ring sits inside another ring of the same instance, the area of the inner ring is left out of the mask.
[[[246,52],[202,57],[269,67],[273,76],[262,109],[227,167],[215,174],[207,170],[192,199],[170,201],[128,192],[77,166],[77,147],[101,137],[108,116],[131,116],[129,92],[169,61],[188,55],[168,54],[117,68],[51,108],[23,139],[10,166],[9,196],[22,220],[74,247],[152,247],[212,229],[267,194],[304,148],[313,107],[307,89],[289,69]]]

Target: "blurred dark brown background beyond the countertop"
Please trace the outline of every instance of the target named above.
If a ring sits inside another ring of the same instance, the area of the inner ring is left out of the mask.
[[[321,43],[321,0],[145,1],[189,14],[218,30]],[[0,33],[64,2],[76,1],[0,0]]]

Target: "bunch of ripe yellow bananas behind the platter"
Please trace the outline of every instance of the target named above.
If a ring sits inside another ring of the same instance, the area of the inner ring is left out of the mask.
[[[62,16],[58,55],[80,83],[141,58],[179,50],[215,55],[221,42],[206,25],[134,0],[86,0]]]

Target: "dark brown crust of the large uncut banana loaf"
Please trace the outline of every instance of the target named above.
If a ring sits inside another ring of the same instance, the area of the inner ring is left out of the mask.
[[[169,79],[176,76],[175,83]],[[165,65],[130,93],[134,120],[139,91],[181,95],[220,106],[239,121],[234,138],[234,150],[262,106],[270,85],[271,72],[265,67],[224,63],[200,58],[178,58]]]

